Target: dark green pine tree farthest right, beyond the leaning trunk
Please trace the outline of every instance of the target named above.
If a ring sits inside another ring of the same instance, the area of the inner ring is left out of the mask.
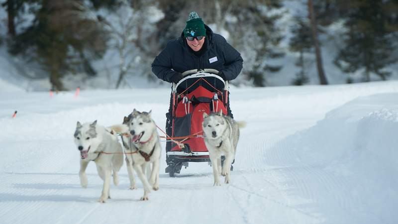
[[[351,10],[345,23],[345,46],[335,58],[335,64],[346,73],[363,70],[363,79],[367,82],[371,81],[371,74],[386,80],[391,71],[384,68],[397,62],[386,27],[388,17],[383,11],[385,4],[383,0],[350,1]]]

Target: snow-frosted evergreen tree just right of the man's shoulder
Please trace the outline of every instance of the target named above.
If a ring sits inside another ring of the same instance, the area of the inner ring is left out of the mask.
[[[275,65],[270,59],[281,58],[284,52],[278,48],[283,36],[276,21],[282,13],[274,11],[280,9],[280,0],[236,1],[231,14],[236,16],[236,22],[226,21],[227,30],[232,34],[233,44],[242,53],[248,55],[243,72],[253,85],[264,87],[267,85],[267,75],[278,72],[282,66]],[[247,25],[251,24],[251,25]]]

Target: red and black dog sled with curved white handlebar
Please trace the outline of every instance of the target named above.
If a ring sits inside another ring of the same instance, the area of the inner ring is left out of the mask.
[[[187,168],[189,162],[210,162],[202,137],[203,112],[228,112],[228,81],[217,74],[214,69],[190,70],[173,84],[165,171],[171,177],[183,166]]]

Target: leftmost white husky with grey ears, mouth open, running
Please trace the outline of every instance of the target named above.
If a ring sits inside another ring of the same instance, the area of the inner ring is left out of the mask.
[[[81,124],[79,121],[75,130],[75,144],[80,151],[80,183],[87,187],[86,168],[90,161],[94,161],[98,174],[103,180],[102,194],[99,202],[110,199],[109,185],[113,171],[113,183],[119,184],[117,172],[123,165],[123,151],[115,133],[104,126],[93,123]]]

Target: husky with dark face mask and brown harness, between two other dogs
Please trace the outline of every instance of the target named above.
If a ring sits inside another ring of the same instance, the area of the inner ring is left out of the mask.
[[[126,154],[128,158],[126,161],[128,160],[134,167],[144,186],[144,195],[140,200],[148,200],[151,186],[155,191],[159,189],[161,146],[156,124],[151,118],[151,111],[138,112],[135,109],[128,117],[124,117],[123,123],[127,124],[130,133],[125,147],[132,150],[130,154]],[[152,170],[148,181],[145,170],[150,167],[150,164],[152,164]]]

